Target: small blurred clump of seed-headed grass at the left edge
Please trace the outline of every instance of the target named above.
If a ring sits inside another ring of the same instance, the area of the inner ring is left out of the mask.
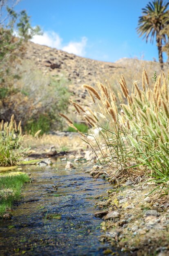
[[[26,149],[21,146],[22,127],[21,121],[16,124],[14,115],[12,115],[10,122],[0,123],[0,166],[12,166],[18,162]]]

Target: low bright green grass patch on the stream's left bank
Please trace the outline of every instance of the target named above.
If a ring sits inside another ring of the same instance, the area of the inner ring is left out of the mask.
[[[0,177],[0,217],[11,209],[13,202],[20,199],[22,186],[29,181],[26,173],[4,175]]]

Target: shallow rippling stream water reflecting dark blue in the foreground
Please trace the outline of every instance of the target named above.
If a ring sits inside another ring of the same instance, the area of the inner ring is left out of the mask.
[[[98,211],[96,197],[107,196],[112,187],[102,179],[93,179],[81,167],[64,170],[58,164],[57,171],[51,167],[25,168],[31,172],[32,183],[24,186],[23,199],[12,220],[0,220],[0,256],[101,256],[107,248],[117,252],[99,241],[104,234],[100,230],[102,219],[93,215]]]

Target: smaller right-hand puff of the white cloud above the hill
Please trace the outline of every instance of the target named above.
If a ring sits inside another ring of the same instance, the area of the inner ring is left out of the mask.
[[[85,56],[86,44],[87,38],[84,36],[80,42],[69,42],[68,45],[62,47],[62,50],[76,55]]]

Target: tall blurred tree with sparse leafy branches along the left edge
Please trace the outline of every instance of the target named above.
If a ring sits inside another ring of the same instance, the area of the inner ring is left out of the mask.
[[[15,114],[19,121],[25,113],[31,117],[34,103],[22,92],[22,88],[17,86],[22,76],[18,66],[25,52],[23,41],[30,39],[39,31],[31,27],[30,17],[25,11],[16,13],[12,7],[5,6],[6,2],[0,5],[1,12],[6,14],[5,17],[0,16],[0,120],[10,121],[11,115]],[[4,11],[5,7],[6,11]],[[29,29],[27,30],[26,27]],[[19,29],[18,32],[16,28]],[[18,33],[22,38],[14,36]]]

